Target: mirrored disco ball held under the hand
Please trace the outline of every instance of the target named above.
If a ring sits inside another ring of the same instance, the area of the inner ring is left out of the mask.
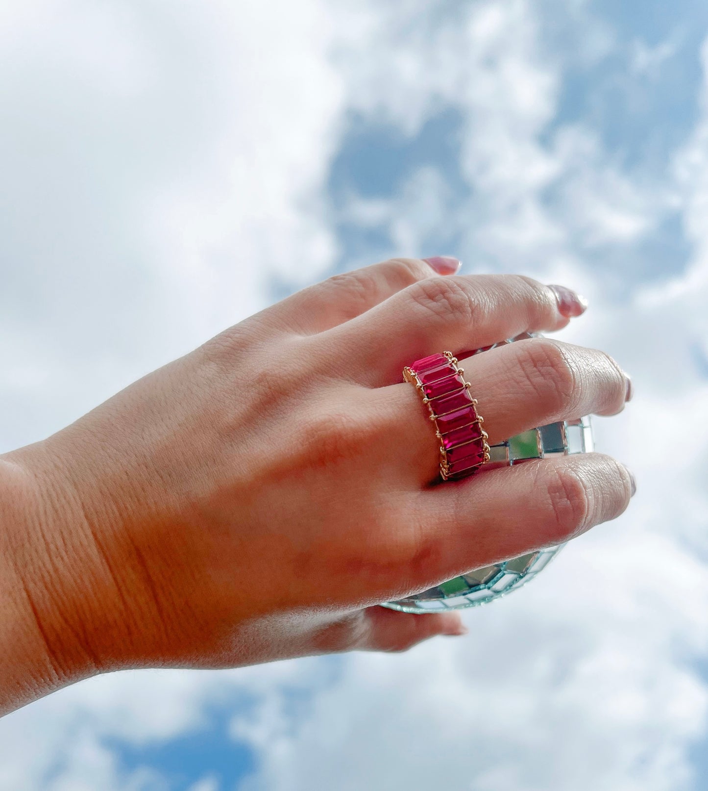
[[[485,346],[484,349],[476,350],[474,354],[532,337],[533,335],[524,333],[502,343],[495,343],[494,346]],[[464,356],[469,355],[465,353]],[[590,418],[584,417],[540,426],[517,434],[506,442],[500,442],[499,445],[492,445],[489,461],[484,466],[511,466],[529,459],[567,456],[571,453],[585,453],[592,450],[593,430],[590,426]],[[477,474],[484,475],[484,471]],[[415,596],[387,602],[383,606],[402,612],[424,613],[488,604],[510,591],[521,588],[536,577],[564,546],[565,543],[562,543],[556,547],[522,554],[518,558],[495,563],[493,566],[484,566],[462,574],[461,577],[454,577],[452,580],[435,585],[435,588],[416,593]]]

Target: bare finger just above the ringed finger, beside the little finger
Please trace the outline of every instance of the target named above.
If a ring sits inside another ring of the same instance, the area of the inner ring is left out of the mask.
[[[404,365],[427,354],[449,349],[459,357],[522,332],[565,327],[558,293],[521,275],[426,278],[334,327],[327,347],[362,384],[393,384]]]

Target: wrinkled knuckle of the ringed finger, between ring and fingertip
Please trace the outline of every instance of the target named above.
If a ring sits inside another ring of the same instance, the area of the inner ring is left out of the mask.
[[[549,411],[572,411],[578,401],[578,377],[566,352],[558,343],[534,338],[518,347],[522,385]]]

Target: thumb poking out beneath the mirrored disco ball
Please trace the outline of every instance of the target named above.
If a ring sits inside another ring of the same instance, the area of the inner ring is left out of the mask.
[[[458,612],[397,612],[387,607],[367,607],[348,615],[337,625],[333,651],[407,651],[438,634],[467,634]]]

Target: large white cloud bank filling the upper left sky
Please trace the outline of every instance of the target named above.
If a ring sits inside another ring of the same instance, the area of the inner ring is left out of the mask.
[[[11,448],[331,263],[342,85],[319,0],[2,13]]]

